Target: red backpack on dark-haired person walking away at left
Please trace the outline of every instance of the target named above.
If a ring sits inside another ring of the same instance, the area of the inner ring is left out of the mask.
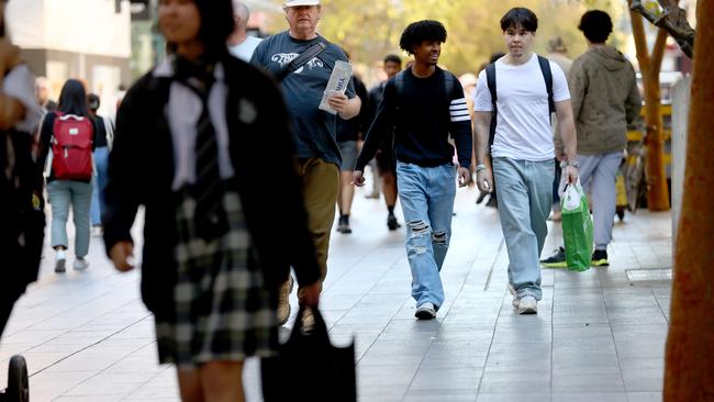
[[[55,112],[52,170],[59,180],[91,180],[92,137],[89,118]]]

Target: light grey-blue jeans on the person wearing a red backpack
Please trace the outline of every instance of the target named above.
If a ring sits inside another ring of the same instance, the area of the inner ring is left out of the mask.
[[[82,181],[54,180],[47,183],[47,196],[52,205],[52,247],[68,248],[67,219],[71,205],[75,220],[75,255],[85,257],[89,253],[89,206],[92,185]]]

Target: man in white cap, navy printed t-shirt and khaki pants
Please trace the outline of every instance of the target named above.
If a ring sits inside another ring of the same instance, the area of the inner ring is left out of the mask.
[[[277,76],[303,52],[319,43],[325,45],[322,53],[289,74],[280,85],[293,121],[298,148],[298,174],[302,180],[308,226],[315,243],[321,281],[323,281],[327,276],[327,249],[335,220],[342,157],[335,138],[336,115],[317,107],[335,62],[347,63],[348,60],[339,46],[330,43],[316,31],[323,12],[320,0],[288,0],[283,4],[283,10],[289,25],[288,31],[260,42],[250,63]],[[337,111],[339,118],[345,120],[357,116],[361,105],[361,101],[355,96],[352,81],[347,85],[345,94],[331,96],[328,103]],[[277,227],[279,230],[280,225]],[[292,277],[286,275],[278,306],[278,317],[281,323],[286,323],[290,317],[291,291]],[[302,291],[299,290],[299,294],[300,292]],[[306,326],[310,326],[309,323]]]

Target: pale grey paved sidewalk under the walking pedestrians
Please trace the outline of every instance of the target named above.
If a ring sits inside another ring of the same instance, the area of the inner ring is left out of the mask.
[[[356,338],[359,400],[661,400],[670,214],[642,211],[617,223],[610,268],[544,269],[538,315],[520,316],[498,214],[475,199],[472,189],[458,191],[446,303],[431,322],[414,320],[404,231],[387,230],[381,200],[359,192],[354,233],[334,233],[321,305],[333,343]],[[556,227],[544,254],[559,242]],[[23,354],[35,402],[178,401],[174,368],[157,364],[138,275],[115,272],[98,237],[86,272],[57,276],[45,254],[0,344],[0,372]],[[249,401],[260,401],[257,372],[249,360]]]

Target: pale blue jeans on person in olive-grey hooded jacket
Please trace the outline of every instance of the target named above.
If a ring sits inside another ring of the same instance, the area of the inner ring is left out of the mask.
[[[612,226],[615,220],[617,191],[615,180],[623,153],[578,155],[580,161],[580,185],[592,197],[592,222],[595,249],[607,249],[612,242]]]

